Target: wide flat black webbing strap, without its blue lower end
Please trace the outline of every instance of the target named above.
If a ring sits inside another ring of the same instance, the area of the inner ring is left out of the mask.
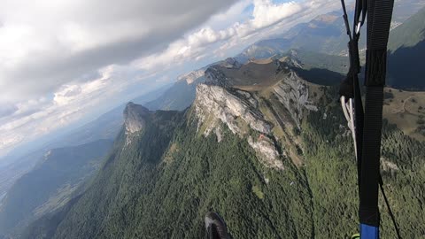
[[[366,103],[360,181],[360,223],[379,227],[378,209],[383,86],[386,76],[387,44],[394,0],[367,1]]]

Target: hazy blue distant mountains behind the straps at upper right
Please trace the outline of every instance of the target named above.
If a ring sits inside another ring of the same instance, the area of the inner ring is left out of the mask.
[[[423,0],[401,0],[395,4],[393,26],[399,26],[425,6]],[[349,8],[350,10],[351,8]],[[349,14],[352,15],[353,10]],[[282,35],[273,39],[256,42],[236,56],[240,62],[250,58],[270,58],[275,54],[284,53],[290,49],[301,49],[326,53],[330,55],[346,55],[348,36],[345,32],[344,19],[341,11],[322,14],[309,22],[291,27]],[[350,22],[351,23],[351,22]],[[406,38],[406,37],[405,37]],[[362,49],[366,43],[366,35],[362,35],[359,46]]]

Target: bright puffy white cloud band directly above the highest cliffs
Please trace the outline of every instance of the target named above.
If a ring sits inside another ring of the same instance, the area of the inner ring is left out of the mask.
[[[222,29],[210,27],[221,26],[224,19],[237,19],[236,16],[243,16],[245,8],[250,4],[253,4],[251,18],[245,19],[243,22],[230,23],[230,26]],[[329,4],[333,4],[333,6],[330,7]],[[329,12],[335,6],[335,1],[331,0],[291,1],[281,4],[274,4],[271,0],[241,1],[228,12],[214,15],[203,27],[199,27],[191,34],[171,43],[166,50],[135,60],[134,65],[145,70],[179,66],[184,62],[205,58],[205,51],[208,50],[212,51],[216,58],[224,57],[228,50],[236,46],[240,47],[246,45],[247,42],[259,40],[259,36],[270,35],[272,31],[267,30],[267,27],[273,28],[274,25],[279,25],[282,31],[302,19],[305,20],[306,17],[312,18],[321,11]],[[261,35],[262,31],[267,34]],[[216,43],[220,43],[220,45],[216,46]]]

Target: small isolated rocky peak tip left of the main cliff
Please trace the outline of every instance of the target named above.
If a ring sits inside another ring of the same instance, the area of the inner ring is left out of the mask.
[[[142,105],[129,102],[124,110],[124,124],[127,133],[133,134],[141,131],[146,125],[146,117],[149,113],[149,110]]]

